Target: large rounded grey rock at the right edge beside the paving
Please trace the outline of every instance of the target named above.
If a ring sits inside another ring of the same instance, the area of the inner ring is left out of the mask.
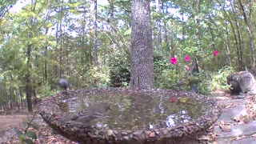
[[[248,71],[240,71],[230,74],[227,78],[231,94],[255,94],[256,82],[253,74]]]

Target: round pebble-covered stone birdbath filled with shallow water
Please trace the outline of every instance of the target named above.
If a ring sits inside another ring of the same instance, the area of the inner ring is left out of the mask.
[[[90,125],[61,122],[95,102],[109,102],[111,110]],[[130,88],[55,94],[42,101],[39,111],[58,134],[80,143],[188,143],[220,114],[215,102],[201,94]]]

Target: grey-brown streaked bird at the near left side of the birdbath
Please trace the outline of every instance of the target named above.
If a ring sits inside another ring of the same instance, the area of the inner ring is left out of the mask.
[[[71,118],[65,118],[62,122],[79,122],[82,124],[89,124],[90,122],[102,118],[102,116],[110,109],[110,104],[107,102],[98,102],[92,106],[87,106],[85,109],[78,112]],[[61,122],[61,123],[62,123]]]

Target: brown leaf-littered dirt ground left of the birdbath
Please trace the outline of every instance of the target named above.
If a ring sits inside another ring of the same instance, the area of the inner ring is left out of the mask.
[[[21,143],[18,140],[16,130],[24,132],[26,130],[26,122],[33,117],[33,114],[12,114],[12,115],[0,115],[0,143],[1,144],[18,144]],[[37,125],[37,128],[30,126],[28,130],[34,131],[37,135],[37,139],[34,143],[67,143],[74,144],[70,140],[56,134],[54,130],[50,128],[41,118],[40,114],[36,114],[33,123]]]

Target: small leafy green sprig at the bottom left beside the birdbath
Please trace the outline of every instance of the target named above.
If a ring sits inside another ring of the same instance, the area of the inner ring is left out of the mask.
[[[33,140],[37,139],[37,134],[34,131],[29,130],[31,126],[37,126],[33,120],[34,116],[31,119],[27,119],[24,123],[26,124],[25,130],[16,130],[16,134],[18,135],[19,142],[26,143],[26,144],[33,144]]]

